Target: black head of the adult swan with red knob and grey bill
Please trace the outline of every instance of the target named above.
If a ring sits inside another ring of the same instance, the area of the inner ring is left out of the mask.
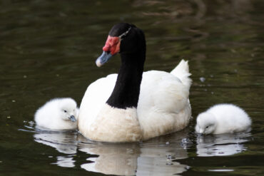
[[[119,23],[108,33],[103,53],[96,60],[96,66],[103,66],[116,53],[137,53],[146,51],[146,41],[143,31],[133,24]]]

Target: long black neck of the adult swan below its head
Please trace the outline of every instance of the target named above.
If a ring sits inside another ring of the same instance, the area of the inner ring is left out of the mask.
[[[146,48],[137,53],[121,53],[121,68],[106,103],[114,108],[136,108],[140,93]]]

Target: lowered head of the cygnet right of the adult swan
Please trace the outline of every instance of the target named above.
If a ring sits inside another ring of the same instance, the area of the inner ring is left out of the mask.
[[[212,113],[200,113],[196,119],[196,133],[208,135],[216,128],[215,116]]]

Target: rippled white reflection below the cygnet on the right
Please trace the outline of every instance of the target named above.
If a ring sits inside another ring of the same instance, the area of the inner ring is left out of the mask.
[[[250,133],[228,133],[223,135],[198,135],[197,155],[202,157],[234,155],[246,150]]]

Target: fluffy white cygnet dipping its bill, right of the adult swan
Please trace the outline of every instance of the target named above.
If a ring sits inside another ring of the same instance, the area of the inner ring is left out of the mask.
[[[205,135],[237,133],[250,130],[251,120],[247,113],[236,105],[214,105],[196,119],[196,133]]]

